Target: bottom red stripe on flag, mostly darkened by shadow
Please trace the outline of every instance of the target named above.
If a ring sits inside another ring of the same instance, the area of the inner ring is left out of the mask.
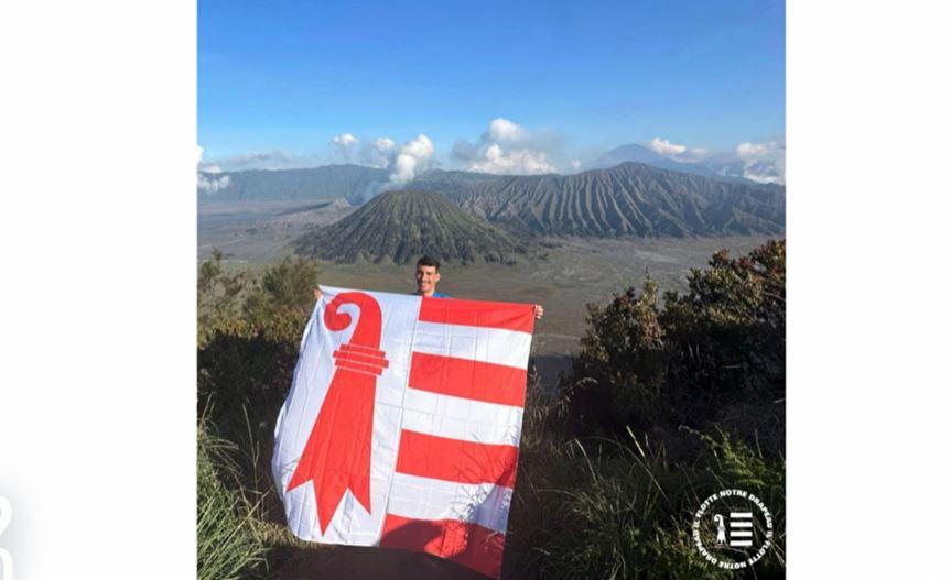
[[[455,519],[411,519],[387,514],[380,547],[424,551],[499,578],[505,534]]]

